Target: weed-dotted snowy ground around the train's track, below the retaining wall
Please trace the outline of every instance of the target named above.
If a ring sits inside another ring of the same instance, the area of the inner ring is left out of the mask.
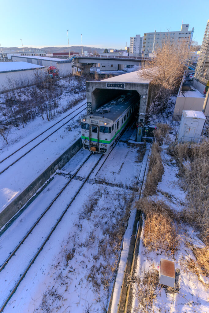
[[[122,136],[118,145],[107,157],[101,170],[97,173],[99,163],[91,174],[89,181],[81,189],[9,300],[4,312],[105,311],[117,269],[123,234],[129,214],[133,210],[129,203],[134,196],[131,187],[137,181],[142,165],[138,158],[139,147],[128,145],[126,142],[133,130],[128,130],[128,132],[128,135],[125,133]],[[122,150],[126,151],[123,157]],[[63,170],[75,172],[87,154],[89,154],[88,151],[80,150],[63,167]],[[57,216],[70,202],[73,192],[81,185],[83,177],[89,173],[92,162],[96,162],[98,157],[98,155],[92,155],[88,159],[85,166],[71,181],[69,188],[66,188],[64,196],[59,197],[53,204],[52,210],[47,212],[48,218],[45,217],[45,222],[43,220],[37,225],[37,229],[34,229],[31,235],[34,236],[31,238],[35,238],[34,244],[27,241],[22,245],[21,256],[26,258],[26,263],[31,259],[34,249],[40,245],[41,238],[47,235],[50,223],[51,225],[55,223]],[[11,240],[4,244],[4,237],[0,238],[2,259],[7,257],[8,251],[13,249],[65,181],[65,177],[55,175],[44,194],[41,193],[13,223],[12,228],[3,234]],[[89,206],[91,203],[92,205]],[[35,208],[38,208],[37,212],[34,212]],[[44,226],[42,226],[43,223]],[[23,230],[19,230],[20,225],[23,224]],[[39,229],[41,229],[40,233]],[[129,225],[128,229],[131,234],[132,225]],[[15,233],[17,233],[17,238],[15,238]],[[126,238],[126,250],[129,239]],[[18,258],[18,255],[20,257],[17,252],[15,258]],[[6,276],[3,275],[3,271],[0,273],[1,299],[6,296],[5,290],[8,291],[11,281],[18,279],[20,275],[20,270],[14,271],[15,261],[11,264],[6,265],[3,270],[7,273]],[[14,273],[10,277],[9,271],[12,270]],[[10,277],[7,282],[5,282],[8,280],[6,277]],[[4,286],[4,283],[7,285]]]

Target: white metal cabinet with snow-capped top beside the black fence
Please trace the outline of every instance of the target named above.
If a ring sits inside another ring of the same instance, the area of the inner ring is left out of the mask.
[[[180,141],[198,142],[205,123],[203,112],[183,110],[179,126],[178,139]]]

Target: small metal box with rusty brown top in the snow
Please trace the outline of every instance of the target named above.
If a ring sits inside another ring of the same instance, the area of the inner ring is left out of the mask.
[[[174,287],[175,284],[175,264],[174,261],[160,259],[159,283]]]

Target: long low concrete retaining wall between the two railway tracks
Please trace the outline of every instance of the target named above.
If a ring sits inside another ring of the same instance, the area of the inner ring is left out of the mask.
[[[0,229],[24,206],[37,190],[53,175],[57,169],[62,168],[82,147],[81,137],[62,153],[46,170],[37,177],[17,198],[13,200],[0,213]]]

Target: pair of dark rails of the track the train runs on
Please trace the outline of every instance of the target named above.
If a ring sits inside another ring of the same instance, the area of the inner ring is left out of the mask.
[[[125,131],[125,130],[124,130]],[[123,131],[123,132],[124,132]],[[106,155],[106,157],[104,158],[102,165],[104,164],[104,162],[106,161],[107,157],[109,156],[109,154],[111,153],[111,151],[114,149],[114,147],[116,146],[116,144],[118,143],[120,137],[123,135],[123,132],[120,134],[120,136],[118,136],[117,140],[115,141],[114,145],[112,146],[112,149],[109,151],[109,153]],[[5,259],[5,261],[3,262],[3,264],[0,266],[0,275],[3,273],[4,270],[7,269],[8,265],[10,264],[10,262],[12,261],[13,257],[17,257],[18,254],[18,250],[21,249],[21,247],[23,246],[23,244],[25,243],[25,240],[29,237],[30,234],[32,234],[32,232],[35,230],[35,227],[39,224],[39,222],[41,221],[41,219],[45,216],[45,214],[49,211],[49,209],[52,207],[52,205],[55,203],[55,201],[59,198],[59,196],[62,194],[62,192],[65,190],[65,188],[69,185],[69,183],[72,181],[72,179],[74,177],[76,177],[76,174],[81,170],[81,168],[84,166],[84,164],[86,163],[86,161],[92,156],[92,153],[82,162],[82,164],[80,165],[80,167],[76,170],[76,172],[72,175],[72,177],[66,182],[66,184],[64,185],[64,187],[62,187],[62,189],[60,190],[60,192],[56,195],[56,197],[51,201],[51,203],[48,205],[48,207],[44,210],[44,212],[40,215],[40,217],[37,219],[37,221],[33,224],[33,226],[29,229],[29,231],[24,235],[24,237],[21,239],[21,241],[17,244],[17,246],[13,249],[12,253],[10,253],[7,257],[7,259]],[[7,305],[8,301],[10,300],[10,298],[12,297],[12,295],[15,293],[16,289],[18,288],[18,285],[21,283],[21,281],[24,279],[24,276],[26,275],[27,271],[29,270],[29,268],[31,267],[31,265],[34,263],[35,259],[38,257],[39,253],[42,251],[42,249],[44,248],[44,245],[46,244],[46,242],[49,240],[50,236],[52,235],[52,233],[54,232],[55,228],[57,227],[57,225],[60,223],[60,221],[62,220],[63,216],[65,215],[65,213],[67,212],[67,210],[71,207],[71,204],[73,203],[73,201],[75,200],[76,196],[79,194],[79,192],[81,191],[82,187],[85,185],[85,183],[87,182],[87,180],[90,178],[92,172],[96,169],[97,165],[99,164],[99,162],[101,161],[101,159],[104,157],[104,155],[102,154],[99,159],[97,160],[96,164],[91,168],[91,170],[89,171],[89,173],[86,175],[85,179],[83,180],[83,182],[81,183],[80,187],[77,189],[77,191],[75,192],[75,194],[73,195],[73,197],[71,198],[71,201],[66,205],[65,209],[62,211],[61,215],[59,216],[59,218],[57,218],[56,223],[53,225],[53,227],[50,227],[50,232],[48,233],[48,235],[44,238],[44,241],[40,244],[39,248],[36,250],[36,252],[34,253],[33,257],[29,260],[29,262],[24,266],[22,265],[22,269],[19,270],[19,267],[17,266],[19,272],[16,275],[16,277],[18,277],[15,280],[15,285],[13,287],[8,285],[8,295],[2,299],[2,303],[0,303],[0,312],[3,312],[5,306]],[[99,169],[102,167],[102,165],[99,167]],[[31,244],[33,244],[33,238],[32,236],[29,237],[31,241]],[[21,255],[19,256],[20,258],[20,263],[23,264],[23,260],[21,258]],[[24,267],[24,269],[23,269]],[[9,275],[9,273],[7,274]],[[4,286],[5,287],[5,286]],[[2,297],[1,297],[2,298]]]

